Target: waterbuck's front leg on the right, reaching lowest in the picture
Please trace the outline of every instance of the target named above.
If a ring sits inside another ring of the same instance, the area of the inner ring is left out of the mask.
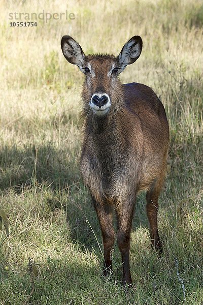
[[[117,214],[117,241],[121,252],[123,264],[123,284],[131,286],[132,279],[130,274],[129,250],[130,250],[130,230],[134,214],[135,200],[128,201],[119,205],[116,209]]]

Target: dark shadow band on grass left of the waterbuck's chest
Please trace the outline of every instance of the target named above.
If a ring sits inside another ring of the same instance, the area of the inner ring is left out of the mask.
[[[0,150],[1,190],[13,188],[19,191],[33,184],[46,182],[52,190],[62,190],[76,184],[78,171],[78,147],[56,149],[46,143],[41,146],[4,146]]]

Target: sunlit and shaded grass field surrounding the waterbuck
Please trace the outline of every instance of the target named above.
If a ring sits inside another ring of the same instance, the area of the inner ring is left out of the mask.
[[[0,304],[203,304],[203,4],[198,0],[0,0]],[[10,27],[11,12],[74,13]],[[100,229],[79,175],[83,74],[64,59],[71,35],[84,52],[119,53],[143,39],[121,81],[151,86],[170,124],[167,177],[159,203],[164,252],[151,250],[145,194],[131,232],[133,288],[121,286],[114,246],[101,276]],[[31,271],[27,270],[28,258]],[[38,272],[37,272],[38,271]],[[38,275],[37,275],[38,273]]]

